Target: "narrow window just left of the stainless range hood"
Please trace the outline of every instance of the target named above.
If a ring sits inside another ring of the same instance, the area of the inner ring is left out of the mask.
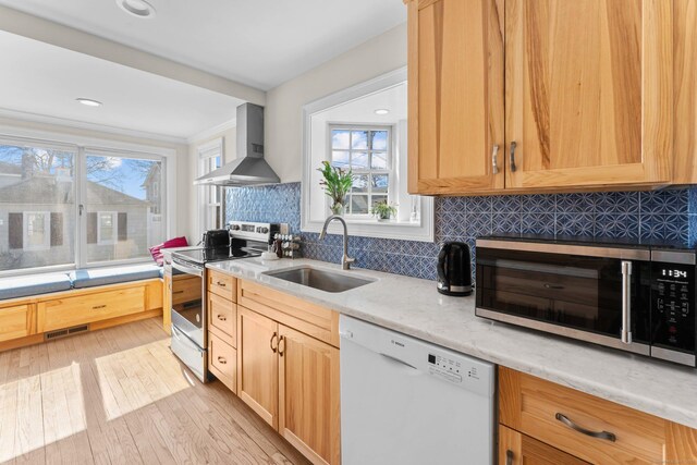
[[[222,167],[223,138],[217,138],[198,147],[199,170],[203,176]],[[200,230],[215,230],[222,228],[222,193],[218,186],[199,187]]]

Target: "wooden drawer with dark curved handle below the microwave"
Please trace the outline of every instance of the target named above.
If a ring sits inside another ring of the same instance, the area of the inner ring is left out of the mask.
[[[663,463],[661,418],[504,367],[499,387],[500,421],[510,428],[595,464]]]

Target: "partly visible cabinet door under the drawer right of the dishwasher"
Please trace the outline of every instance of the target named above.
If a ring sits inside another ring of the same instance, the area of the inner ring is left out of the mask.
[[[499,465],[588,465],[588,462],[501,425]]]

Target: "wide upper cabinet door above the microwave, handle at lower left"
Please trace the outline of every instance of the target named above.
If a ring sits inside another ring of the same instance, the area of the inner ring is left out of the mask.
[[[670,181],[672,2],[505,8],[506,187]]]

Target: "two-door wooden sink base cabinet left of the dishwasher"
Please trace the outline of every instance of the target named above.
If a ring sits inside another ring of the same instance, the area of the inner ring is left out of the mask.
[[[311,311],[297,318],[292,315],[292,308],[302,306],[297,298],[283,299],[281,293],[267,294],[245,281],[239,286],[240,292],[248,291],[239,302],[256,308],[237,306],[237,395],[310,462],[339,464],[339,347],[331,343],[338,334],[330,329],[337,327],[329,315],[333,311],[308,303],[306,311]],[[273,307],[260,304],[261,296]],[[293,322],[301,328],[292,328]],[[326,340],[299,330],[305,328]]]

